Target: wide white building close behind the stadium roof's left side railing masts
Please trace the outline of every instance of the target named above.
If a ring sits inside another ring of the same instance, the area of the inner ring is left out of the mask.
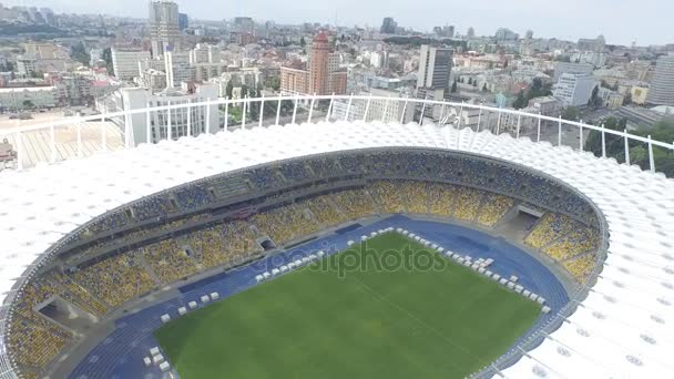
[[[207,100],[217,100],[217,86],[213,84],[196,84],[187,88],[183,83],[180,90],[168,89],[160,93],[152,93],[145,89],[121,89],[122,109],[139,110],[146,107],[200,103]],[[174,109],[168,111],[150,112],[150,124],[147,114],[141,112],[131,117],[132,135],[130,143],[137,145],[151,141],[156,143],[161,140],[177,140],[185,135],[198,135],[201,133],[216,133],[219,131],[219,117],[217,105],[200,105]],[[150,139],[147,136],[150,133]]]

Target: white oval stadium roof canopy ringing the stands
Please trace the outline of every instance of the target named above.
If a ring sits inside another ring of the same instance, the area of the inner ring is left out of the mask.
[[[603,213],[604,269],[578,310],[507,378],[674,378],[674,181],[570,147],[448,126],[362,122],[270,126],[183,137],[0,173],[0,300],[45,249],[91,218],[143,196],[275,160],[420,146],[539,170]]]

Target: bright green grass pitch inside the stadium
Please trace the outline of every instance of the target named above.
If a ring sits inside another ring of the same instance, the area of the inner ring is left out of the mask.
[[[394,258],[423,249],[398,234],[367,244]],[[335,266],[357,252],[191,313],[155,336],[182,379],[462,378],[506,352],[540,314],[449,262],[435,270],[370,265],[340,277]]]

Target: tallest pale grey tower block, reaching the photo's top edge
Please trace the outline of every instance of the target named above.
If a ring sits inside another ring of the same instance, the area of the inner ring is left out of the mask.
[[[180,50],[181,31],[177,23],[177,4],[171,0],[150,2],[147,27],[152,41],[152,54],[157,57],[166,51]]]

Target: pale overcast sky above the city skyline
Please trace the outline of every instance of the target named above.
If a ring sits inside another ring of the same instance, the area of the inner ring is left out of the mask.
[[[145,0],[0,0],[4,6],[50,7],[57,12],[144,18]],[[578,40],[604,34],[606,43],[674,43],[674,0],[177,0],[181,12],[206,20],[249,16],[279,23],[304,21],[379,27],[386,16],[401,27],[430,31],[453,24],[478,35],[506,27],[534,37]]]

